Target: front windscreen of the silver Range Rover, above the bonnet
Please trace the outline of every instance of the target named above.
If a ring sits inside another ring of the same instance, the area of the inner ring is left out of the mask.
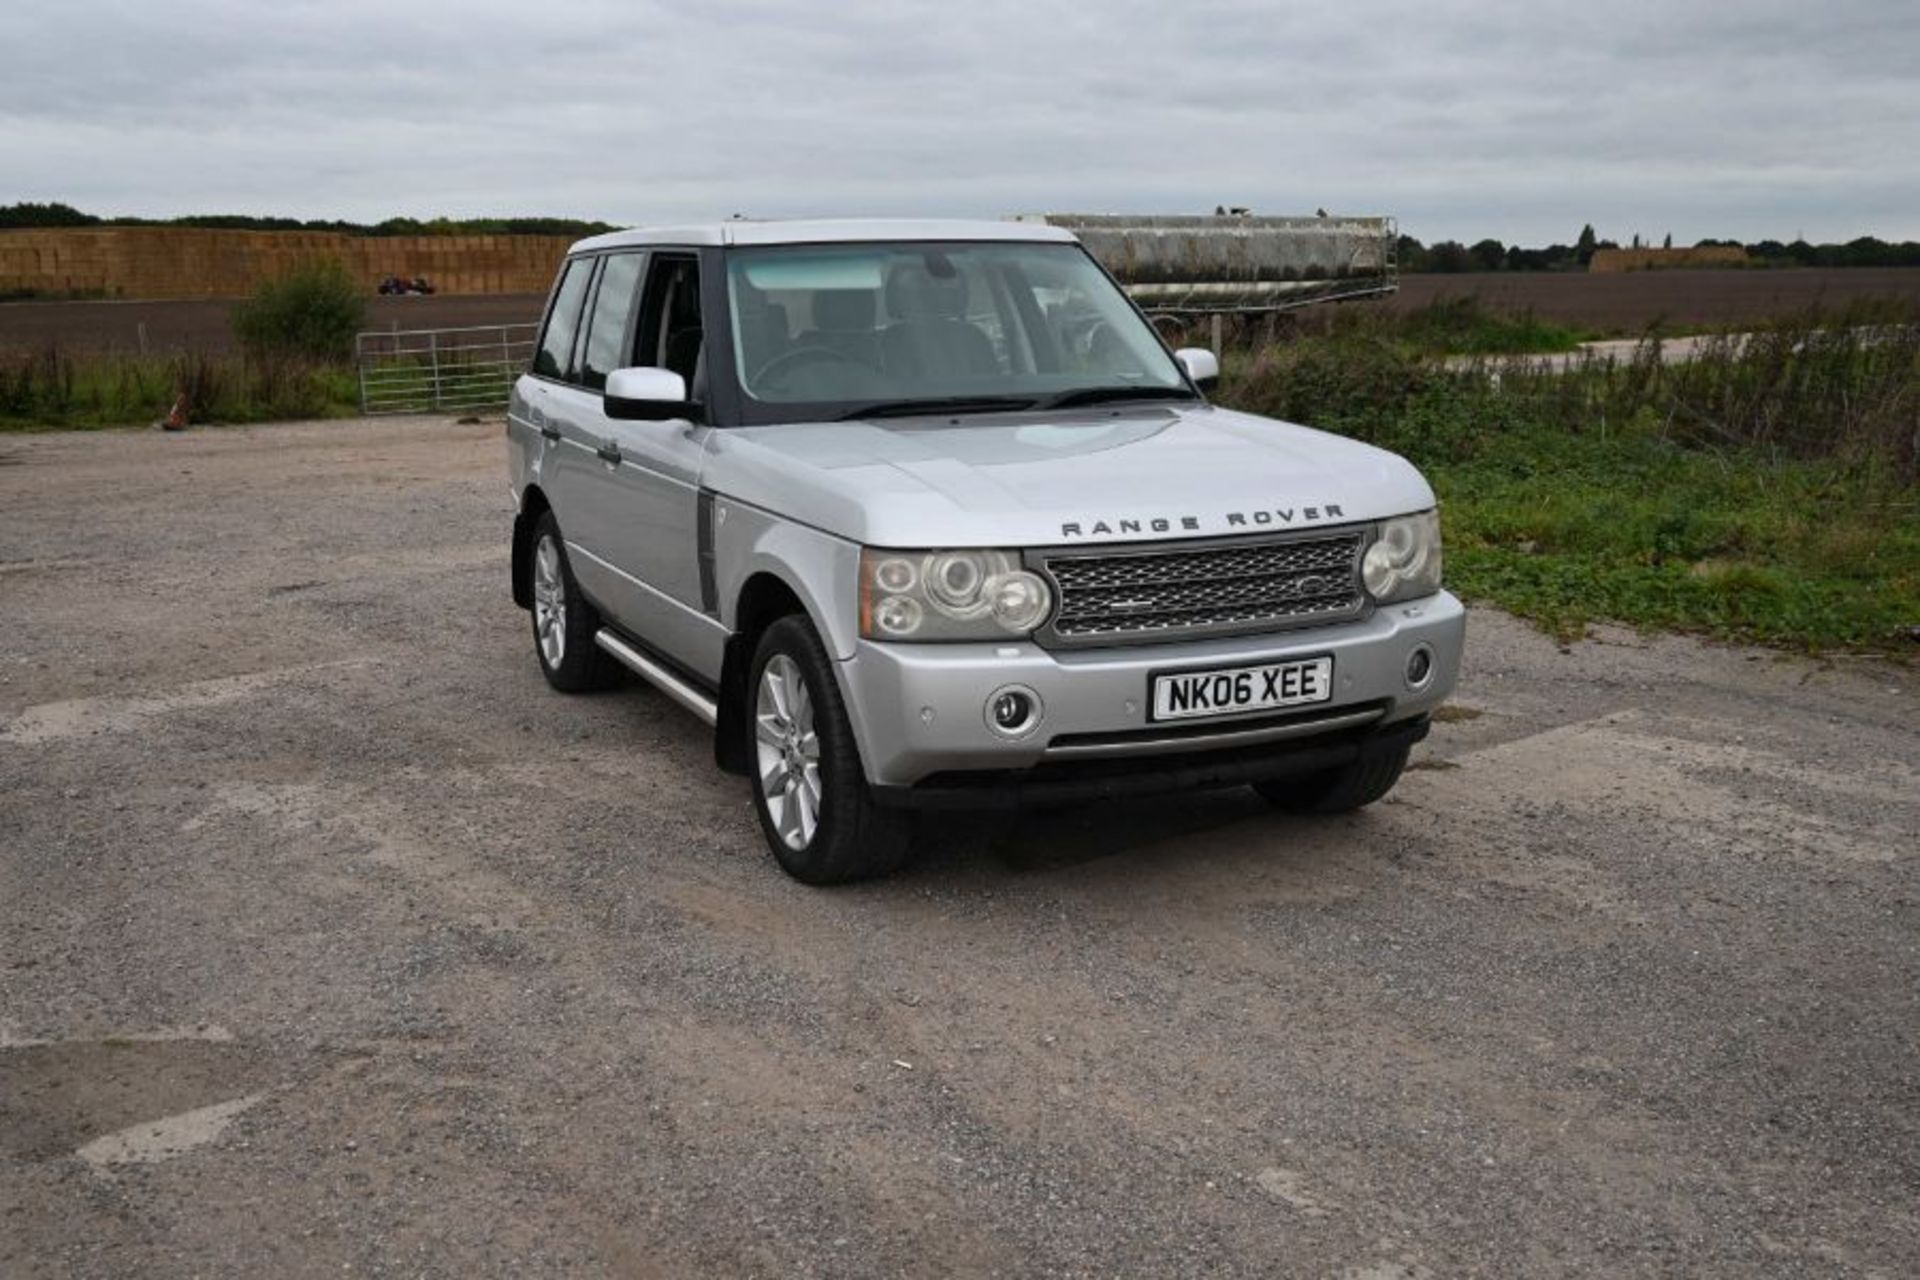
[[[1154,330],[1073,244],[733,249],[728,299],[749,407],[795,416],[1102,388],[1187,393]]]

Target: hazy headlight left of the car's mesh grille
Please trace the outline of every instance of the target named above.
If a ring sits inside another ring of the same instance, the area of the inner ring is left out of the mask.
[[[860,553],[860,635],[883,641],[968,641],[1029,635],[1052,591],[1012,551]]]

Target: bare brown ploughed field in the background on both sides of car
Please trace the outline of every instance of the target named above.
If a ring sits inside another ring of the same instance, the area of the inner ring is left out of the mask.
[[[1814,303],[1920,297],[1920,267],[1801,271],[1640,271],[1626,274],[1469,273],[1402,276],[1384,303],[1402,311],[1478,296],[1494,311],[1532,311],[1548,320],[1638,334],[1655,320],[1740,326]],[[374,297],[369,328],[455,328],[540,319],[540,294]],[[60,344],[71,349],[227,351],[230,301],[27,301],[0,303],[0,351]]]

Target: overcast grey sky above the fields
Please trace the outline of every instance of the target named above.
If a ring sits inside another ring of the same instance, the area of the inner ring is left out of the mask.
[[[1920,2],[6,0],[0,203],[1920,238]]]

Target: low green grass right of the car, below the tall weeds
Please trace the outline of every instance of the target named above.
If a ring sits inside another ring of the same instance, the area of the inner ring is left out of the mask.
[[[1557,635],[1615,620],[1914,652],[1920,495],[1885,476],[1524,426],[1428,478],[1452,585]]]

